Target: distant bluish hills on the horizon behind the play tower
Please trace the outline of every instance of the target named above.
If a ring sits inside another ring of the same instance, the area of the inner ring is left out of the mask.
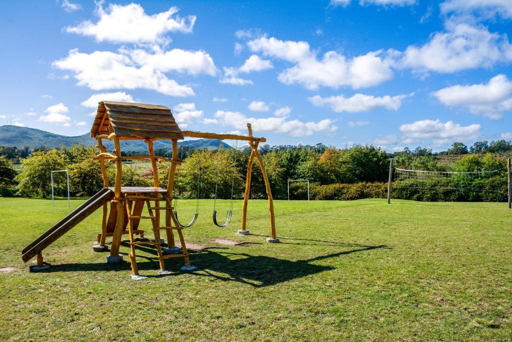
[[[103,140],[105,141],[105,140]],[[12,125],[0,126],[0,145],[15,146],[23,148],[29,146],[30,148],[39,148],[45,145],[49,148],[59,148],[62,146],[70,147],[75,144],[82,145],[96,145],[96,140],[90,137],[90,133],[77,136],[59,135],[40,129],[19,127]],[[216,150],[219,146],[224,148],[231,148],[226,143],[219,139],[196,139],[180,141],[179,146],[186,146],[190,148],[202,148],[208,150]],[[106,144],[107,148],[112,148],[112,143]],[[155,148],[171,149],[172,142],[170,140],[158,140],[155,142]],[[128,151],[147,151],[147,145],[143,140],[125,140],[121,143],[121,150]]]

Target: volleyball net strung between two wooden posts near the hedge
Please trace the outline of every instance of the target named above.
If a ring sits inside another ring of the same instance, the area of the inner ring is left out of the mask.
[[[392,188],[398,198],[438,200],[444,202],[503,202],[511,208],[512,178],[510,158],[508,167],[478,172],[445,172],[393,168],[390,163],[388,204]],[[403,194],[403,197],[400,197]]]

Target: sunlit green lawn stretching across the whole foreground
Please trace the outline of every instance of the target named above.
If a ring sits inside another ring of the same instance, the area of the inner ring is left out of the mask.
[[[176,273],[159,278],[155,251],[139,249],[139,270],[150,277],[135,282],[127,261],[106,265],[108,253],[91,249],[100,211],[46,250],[47,272],[29,273],[21,250],[69,209],[0,198],[0,267],[14,268],[0,273],[0,339],[512,339],[506,204],[276,201],[281,244],[265,242],[263,200],[249,202],[252,235],[244,237],[236,236],[241,201],[223,229],[211,224],[212,204],[202,200],[185,230],[198,270],[182,273],[183,260],[168,260]],[[178,204],[184,221],[193,207]]]

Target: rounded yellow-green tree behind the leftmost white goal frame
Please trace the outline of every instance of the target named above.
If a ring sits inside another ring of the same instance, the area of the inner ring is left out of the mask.
[[[22,168],[15,178],[18,182],[18,194],[49,197],[52,193],[51,171],[65,168],[64,155],[59,150],[35,151],[31,157],[22,160]],[[63,193],[66,184],[65,174],[56,173],[53,180],[56,192]]]

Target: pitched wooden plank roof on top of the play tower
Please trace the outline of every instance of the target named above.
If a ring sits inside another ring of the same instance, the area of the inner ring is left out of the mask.
[[[120,140],[183,139],[170,109],[165,106],[102,101],[91,129],[91,137],[115,133]]]

